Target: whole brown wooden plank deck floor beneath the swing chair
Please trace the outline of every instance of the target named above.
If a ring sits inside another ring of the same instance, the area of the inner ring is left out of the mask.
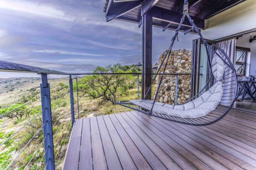
[[[256,170],[256,114],[204,127],[139,112],[77,119],[64,170]]]

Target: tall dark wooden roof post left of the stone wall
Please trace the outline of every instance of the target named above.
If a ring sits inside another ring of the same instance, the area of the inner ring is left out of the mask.
[[[142,16],[142,99],[151,100],[151,89],[145,96],[151,85],[152,74],[152,16]]]

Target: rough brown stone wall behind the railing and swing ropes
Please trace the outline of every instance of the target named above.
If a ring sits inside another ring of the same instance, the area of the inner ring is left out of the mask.
[[[158,68],[166,54],[167,50],[160,56]],[[191,73],[191,62],[192,51],[185,49],[172,51],[165,73]],[[162,68],[160,68],[161,73],[163,73],[163,67],[165,64],[166,62],[164,62]],[[158,76],[156,79],[155,92],[157,90],[160,77],[161,76]],[[163,82],[160,85],[159,93],[157,95],[157,102],[164,102],[172,105],[175,104],[175,79],[175,75],[164,75]],[[190,85],[190,75],[178,76],[178,104],[181,104],[190,98]]]

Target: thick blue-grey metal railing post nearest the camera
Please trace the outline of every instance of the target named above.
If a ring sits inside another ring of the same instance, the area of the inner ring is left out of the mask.
[[[52,111],[50,98],[50,85],[47,81],[47,74],[41,74],[41,104],[42,104],[42,119],[44,130],[44,152],[46,170],[55,170],[54,163],[54,148],[52,136]]]

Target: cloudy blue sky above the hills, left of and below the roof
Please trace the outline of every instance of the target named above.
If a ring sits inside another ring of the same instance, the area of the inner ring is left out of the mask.
[[[0,60],[66,72],[92,72],[100,65],[141,61],[141,28],[106,22],[105,0],[0,0]],[[174,31],[153,28],[153,62]],[[192,48],[189,34],[174,49]]]

